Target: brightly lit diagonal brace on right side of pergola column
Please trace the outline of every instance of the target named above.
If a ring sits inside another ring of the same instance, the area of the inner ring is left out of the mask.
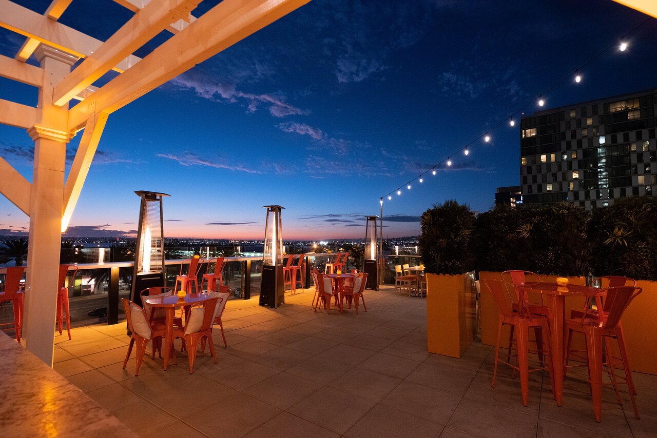
[[[64,186],[64,206],[62,207],[62,232],[68,228],[73,211],[78,204],[82,186],[89,173],[89,167],[101,141],[102,130],[105,128],[108,114],[94,114],[87,120],[80,144],[73,160],[71,170]]]

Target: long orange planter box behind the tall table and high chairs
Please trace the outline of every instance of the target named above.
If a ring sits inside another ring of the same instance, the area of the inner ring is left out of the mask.
[[[482,271],[479,273],[479,279],[500,280],[501,274]],[[541,275],[541,280],[556,282],[556,277]],[[585,284],[585,280],[583,277],[570,277],[570,283]],[[657,351],[657,329],[654,326],[654,318],[657,315],[657,282],[637,281],[637,286],[642,288],[643,292],[627,307],[622,318],[629,366],[631,370],[636,372],[657,375],[657,360],[654,358],[654,352]],[[481,289],[482,343],[495,345],[497,340],[497,305],[495,305],[493,297],[490,296],[484,284],[482,284]],[[530,295],[530,301],[541,303],[540,296],[536,297],[535,295]],[[566,318],[570,317],[570,311],[573,309],[581,310],[584,301],[583,298],[579,297],[566,299]],[[530,339],[533,339],[533,330],[530,330]],[[500,340],[500,347],[506,347],[508,341],[509,328],[505,326]],[[576,336],[573,341],[573,348],[585,348],[583,336]]]

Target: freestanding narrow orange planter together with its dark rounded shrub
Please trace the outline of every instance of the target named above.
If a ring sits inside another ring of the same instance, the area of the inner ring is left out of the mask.
[[[476,336],[470,208],[448,200],[422,213],[420,248],[426,273],[427,349],[461,357]]]

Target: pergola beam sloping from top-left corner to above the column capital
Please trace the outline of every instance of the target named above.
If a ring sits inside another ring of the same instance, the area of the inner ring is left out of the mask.
[[[40,43],[55,47],[78,58],[91,56],[102,45],[102,41],[85,33],[64,26],[46,16],[37,14],[9,0],[0,0],[0,27],[20,33]],[[130,55],[112,70],[124,72],[137,64],[140,58]]]

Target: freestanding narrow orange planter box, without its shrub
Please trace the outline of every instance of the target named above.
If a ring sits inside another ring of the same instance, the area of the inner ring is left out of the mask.
[[[461,357],[477,334],[474,272],[426,280],[427,351]]]

